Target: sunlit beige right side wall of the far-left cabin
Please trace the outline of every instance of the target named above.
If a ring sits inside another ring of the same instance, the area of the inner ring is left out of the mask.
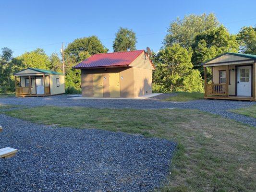
[[[50,95],[65,93],[65,76],[64,75],[49,75],[50,77]],[[57,87],[56,79],[60,79],[60,86]]]

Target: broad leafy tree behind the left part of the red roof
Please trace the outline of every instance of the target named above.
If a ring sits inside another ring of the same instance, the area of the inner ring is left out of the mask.
[[[107,53],[108,49],[105,48],[97,36],[89,36],[75,39],[68,45],[64,53],[65,57],[71,57],[75,60],[75,62],[78,62],[81,61],[79,53],[84,51],[86,51],[89,55],[94,55],[96,53]]]

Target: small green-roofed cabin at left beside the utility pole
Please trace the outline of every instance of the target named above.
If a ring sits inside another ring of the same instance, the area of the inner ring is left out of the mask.
[[[27,68],[14,76],[16,96],[50,96],[65,93],[65,77],[60,72]]]

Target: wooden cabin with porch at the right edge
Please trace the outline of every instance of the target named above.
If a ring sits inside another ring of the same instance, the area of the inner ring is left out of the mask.
[[[256,101],[256,55],[224,53],[202,65],[205,98]],[[210,84],[207,68],[212,72]]]

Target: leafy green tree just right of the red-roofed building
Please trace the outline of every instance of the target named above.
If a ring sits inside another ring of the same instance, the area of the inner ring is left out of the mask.
[[[202,78],[198,70],[192,69],[191,57],[192,52],[177,43],[161,49],[153,60],[155,91],[202,92]]]

